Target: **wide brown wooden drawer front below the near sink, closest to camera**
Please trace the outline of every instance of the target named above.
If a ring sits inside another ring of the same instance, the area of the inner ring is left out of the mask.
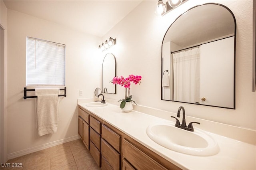
[[[138,170],[167,170],[164,168],[164,166],[150,158],[148,155],[146,155],[144,152],[136,148],[136,146],[125,139],[122,143],[122,150],[123,157]]]

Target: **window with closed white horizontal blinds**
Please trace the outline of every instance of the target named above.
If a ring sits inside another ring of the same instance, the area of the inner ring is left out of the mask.
[[[27,37],[26,85],[65,85],[65,45]]]

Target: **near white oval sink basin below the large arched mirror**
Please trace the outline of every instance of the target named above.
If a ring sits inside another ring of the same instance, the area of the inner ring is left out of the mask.
[[[195,156],[212,156],[219,152],[217,142],[206,132],[194,128],[194,132],[163,122],[148,126],[148,136],[157,144],[176,152]]]

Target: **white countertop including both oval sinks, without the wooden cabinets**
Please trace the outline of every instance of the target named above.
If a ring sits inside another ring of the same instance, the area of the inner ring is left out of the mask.
[[[206,121],[195,125],[191,132],[175,127],[177,122],[170,118],[173,113],[162,119],[138,111],[124,113],[118,105],[111,103],[78,101],[78,105],[181,169],[256,168],[255,145],[200,129],[200,126],[206,126]]]

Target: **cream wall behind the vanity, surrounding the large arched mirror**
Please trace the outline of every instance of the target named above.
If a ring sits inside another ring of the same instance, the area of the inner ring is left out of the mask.
[[[178,107],[184,106],[186,115],[256,130],[256,93],[251,90],[252,1],[204,0],[203,2],[223,4],[232,10],[236,18],[235,110],[161,101],[161,44],[164,34],[180,14],[202,4],[202,0],[190,0],[163,17],[154,14],[155,1],[143,1],[102,40],[109,36],[117,39],[116,49],[112,52],[116,56],[118,76],[142,75],[142,84],[132,85],[130,91],[137,104],[174,113],[177,113]],[[123,91],[123,87],[117,86],[117,95],[106,95],[106,97],[122,99]]]

